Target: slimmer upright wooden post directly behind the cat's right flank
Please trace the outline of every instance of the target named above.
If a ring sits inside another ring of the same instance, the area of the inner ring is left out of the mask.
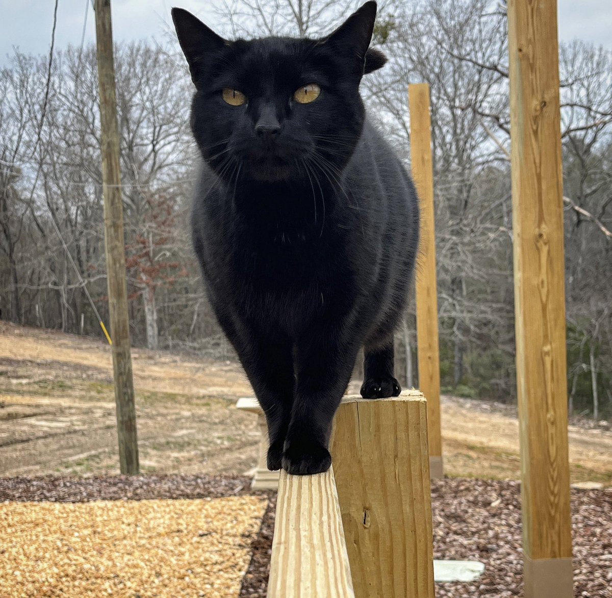
[[[417,354],[419,389],[427,398],[430,471],[444,477],[440,416],[440,356],[438,340],[438,285],[436,283],[436,234],[433,211],[433,159],[429,85],[408,86],[412,178],[420,198],[421,241],[416,273]]]

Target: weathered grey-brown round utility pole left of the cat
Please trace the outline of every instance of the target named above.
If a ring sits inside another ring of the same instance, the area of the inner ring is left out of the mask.
[[[113,341],[119,465],[121,473],[137,474],[139,469],[138,440],[125,283],[125,241],[110,0],[95,0],[95,37],[100,88],[100,128],[102,129],[100,149],[102,151],[106,276]]]

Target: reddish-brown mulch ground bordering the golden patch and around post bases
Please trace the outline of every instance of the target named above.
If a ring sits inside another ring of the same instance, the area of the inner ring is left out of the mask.
[[[0,501],[201,498],[251,494],[244,477],[137,476],[99,479],[0,479]],[[251,545],[240,596],[266,596],[274,529],[274,495]],[[446,479],[432,486],[435,558],[474,559],[485,574],[474,583],[445,583],[438,598],[523,596],[520,485]],[[612,598],[612,488],[572,490],[575,596]]]

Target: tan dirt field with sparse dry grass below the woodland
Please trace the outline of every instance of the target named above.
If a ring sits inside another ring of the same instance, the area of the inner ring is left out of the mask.
[[[144,349],[132,357],[144,473],[255,466],[255,416],[234,406],[253,394],[239,365]],[[112,383],[105,343],[0,322],[0,476],[118,473]],[[443,397],[442,435],[450,476],[518,479],[512,409]],[[573,482],[612,485],[610,454],[609,426],[570,426]]]

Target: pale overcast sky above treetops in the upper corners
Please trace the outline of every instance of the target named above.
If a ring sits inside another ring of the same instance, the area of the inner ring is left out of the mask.
[[[57,47],[81,43],[86,2],[59,0]],[[47,53],[53,24],[53,0],[0,0],[0,64],[6,64],[13,47]],[[113,32],[116,41],[163,38],[170,31],[170,9],[180,6],[215,26],[217,17],[204,0],[113,0]],[[579,39],[612,49],[611,0],[559,0],[559,39]],[[94,40],[94,14],[88,10],[86,42]]]

